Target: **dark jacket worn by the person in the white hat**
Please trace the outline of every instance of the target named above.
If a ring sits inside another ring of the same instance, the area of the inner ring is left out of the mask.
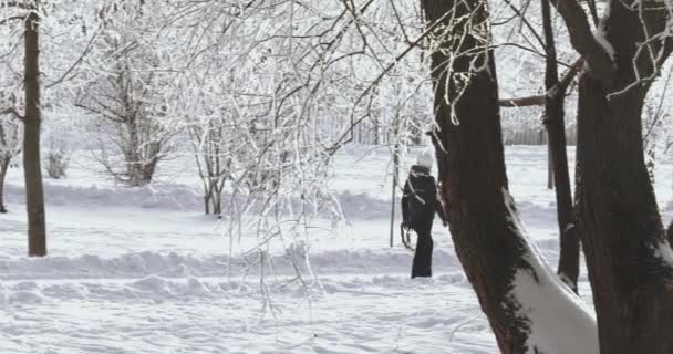
[[[414,165],[404,184],[403,222],[416,232],[428,232],[433,227],[435,212],[442,221],[447,220],[442,201],[437,197],[435,177],[429,174],[429,168]]]

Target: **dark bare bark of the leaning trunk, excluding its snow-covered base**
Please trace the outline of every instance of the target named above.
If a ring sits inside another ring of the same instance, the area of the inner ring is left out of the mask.
[[[431,22],[439,20],[448,25],[447,14],[453,14],[452,34],[465,35],[459,43],[452,42],[451,35],[436,39],[443,51],[432,53],[436,118],[433,143],[456,253],[501,353],[525,353],[529,323],[517,314],[519,304],[508,294],[517,270],[529,264],[524,259],[526,240],[505,200],[508,186],[496,67],[493,52],[484,48],[488,43],[480,40],[488,31],[486,4],[479,0],[426,0],[424,8]],[[466,18],[472,19],[472,25]],[[466,54],[452,62],[448,52]],[[484,69],[475,72],[474,67]],[[448,77],[449,73],[468,72],[473,76],[466,83]],[[462,95],[460,88],[465,88]],[[459,125],[452,123],[447,101],[453,104]]]

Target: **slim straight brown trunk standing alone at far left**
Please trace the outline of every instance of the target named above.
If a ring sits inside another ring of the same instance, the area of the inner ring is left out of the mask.
[[[23,129],[23,171],[25,176],[25,209],[28,212],[28,254],[46,256],[44,191],[40,157],[40,42],[37,13],[39,2],[25,20],[25,117]]]

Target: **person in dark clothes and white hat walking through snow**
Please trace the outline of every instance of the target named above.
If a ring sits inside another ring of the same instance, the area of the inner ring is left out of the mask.
[[[435,212],[446,227],[447,217],[442,201],[437,197],[437,184],[431,175],[434,163],[432,149],[425,149],[418,155],[416,165],[412,166],[408,178],[404,184],[402,196],[402,228],[416,232],[416,251],[412,264],[412,279],[432,277],[433,238],[432,228]]]

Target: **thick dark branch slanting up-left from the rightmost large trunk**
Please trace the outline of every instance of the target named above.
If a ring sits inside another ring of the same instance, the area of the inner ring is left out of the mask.
[[[610,86],[614,72],[612,59],[593,37],[582,7],[577,0],[556,0],[551,3],[566,22],[572,48],[584,59],[591,74],[600,80],[604,87]]]

